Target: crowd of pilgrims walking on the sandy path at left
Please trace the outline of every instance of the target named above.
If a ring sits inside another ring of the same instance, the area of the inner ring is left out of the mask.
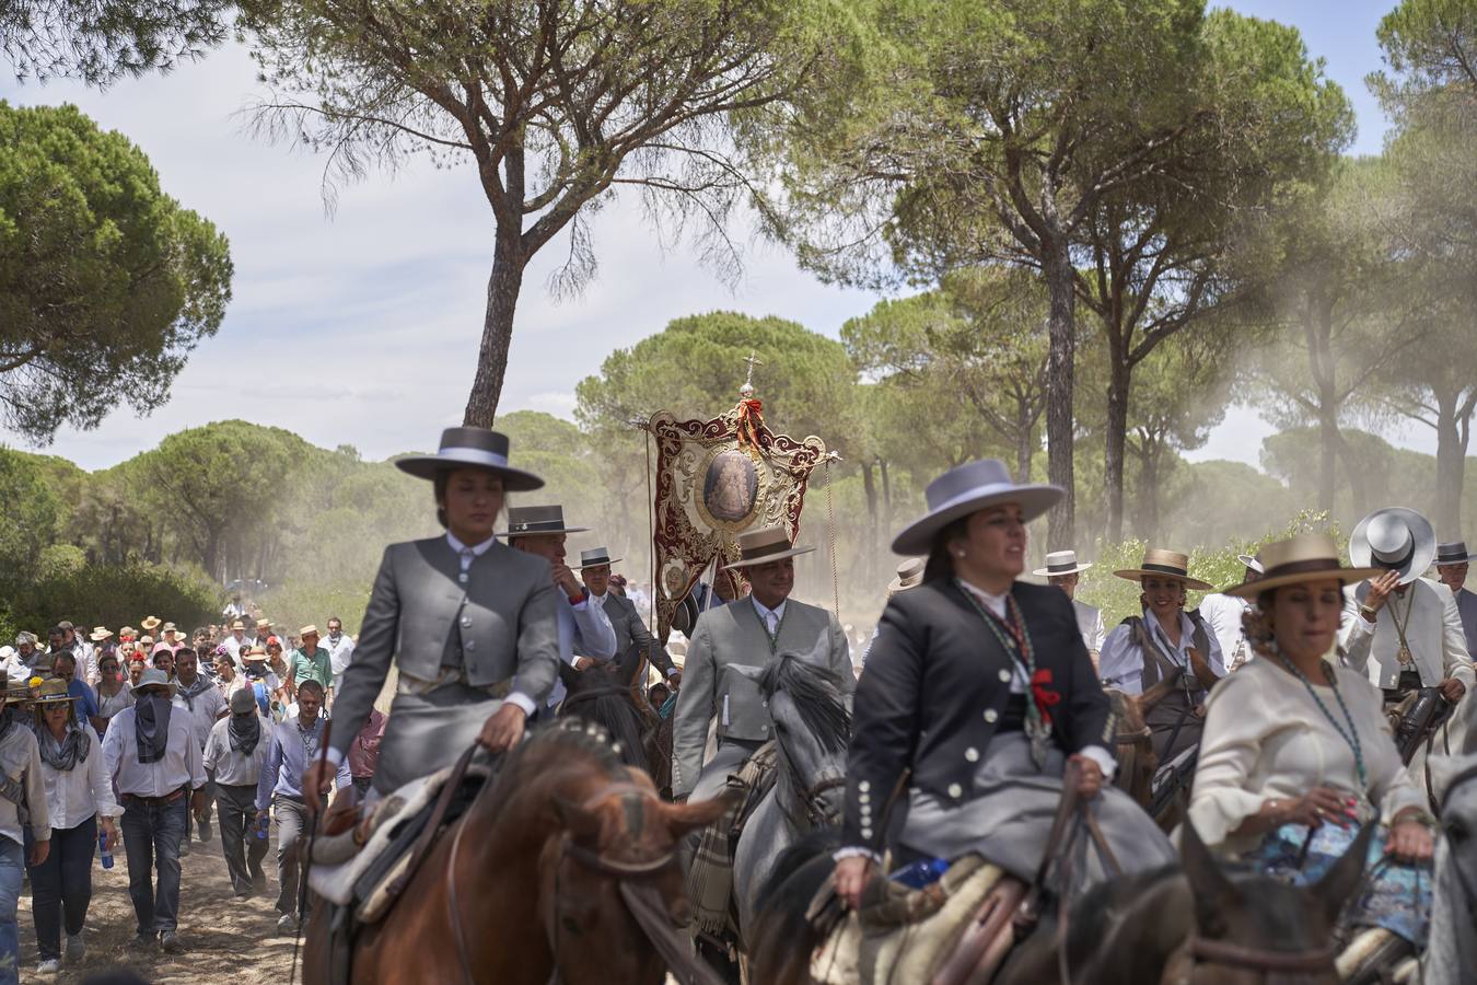
[[[279,930],[300,920],[301,778],[328,728],[354,641],[288,635],[232,600],[189,636],[155,616],[117,632],[61,622],[0,647],[0,982],[16,981],[18,901],[30,883],[38,976],[78,966],[93,868],[123,848],[137,920],[131,947],[179,953],[180,857],[217,836],[238,898],[267,892],[276,821]],[[287,647],[284,647],[284,639]],[[372,712],[340,769],[368,786],[384,716]],[[196,851],[201,851],[196,848]]]

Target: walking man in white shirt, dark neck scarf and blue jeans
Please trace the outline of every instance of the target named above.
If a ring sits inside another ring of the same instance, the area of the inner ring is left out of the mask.
[[[149,667],[133,688],[133,707],[112,718],[102,740],[103,766],[123,803],[128,896],[139,921],[133,947],[152,948],[158,939],[168,954],[183,950],[177,933],[180,842],[188,812],[205,809],[207,783],[189,715],[176,713],[173,696],[164,670]]]

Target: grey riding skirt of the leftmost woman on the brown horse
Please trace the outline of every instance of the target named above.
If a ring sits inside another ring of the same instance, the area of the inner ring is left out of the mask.
[[[380,740],[374,789],[394,793],[406,783],[453,765],[502,707],[486,688],[443,684],[425,694],[394,696]]]

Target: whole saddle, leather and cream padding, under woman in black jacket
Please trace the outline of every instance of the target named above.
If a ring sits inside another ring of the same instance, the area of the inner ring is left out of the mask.
[[[812,913],[832,910],[827,895],[835,895],[829,882]],[[821,985],[988,981],[1015,945],[1012,917],[1024,896],[1025,883],[979,855],[964,855],[922,889],[876,879],[860,910],[835,921],[811,953],[811,978]]]

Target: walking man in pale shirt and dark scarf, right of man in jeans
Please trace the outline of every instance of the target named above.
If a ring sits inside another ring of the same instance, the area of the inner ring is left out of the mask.
[[[222,663],[232,666],[229,654]],[[229,707],[230,713],[211,727],[202,759],[205,772],[214,777],[220,851],[230,888],[245,899],[267,888],[267,876],[261,870],[267,839],[258,837],[253,827],[257,824],[257,783],[270,749],[272,722],[263,718],[251,688],[232,691]]]

